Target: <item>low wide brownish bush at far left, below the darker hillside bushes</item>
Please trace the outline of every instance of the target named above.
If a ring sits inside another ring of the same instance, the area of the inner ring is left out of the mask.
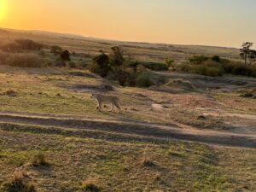
[[[7,65],[15,67],[45,67],[44,59],[37,54],[11,54],[9,55]]]

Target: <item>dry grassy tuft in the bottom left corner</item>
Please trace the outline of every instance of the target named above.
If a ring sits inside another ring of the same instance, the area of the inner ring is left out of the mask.
[[[23,172],[16,171],[9,182],[3,183],[2,188],[7,192],[35,192],[32,179]]]

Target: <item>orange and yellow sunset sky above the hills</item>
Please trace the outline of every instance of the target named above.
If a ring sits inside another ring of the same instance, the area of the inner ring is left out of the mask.
[[[256,0],[0,0],[0,27],[124,41],[256,43]]]

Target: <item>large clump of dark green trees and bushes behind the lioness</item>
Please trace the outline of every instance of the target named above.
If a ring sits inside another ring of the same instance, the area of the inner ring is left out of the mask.
[[[132,61],[125,59],[123,50],[119,47],[113,47],[112,51],[110,55],[100,51],[100,55],[93,58],[90,71],[102,78],[116,80],[121,86],[149,87],[165,83],[165,79],[153,75],[148,69],[168,70],[166,63]]]

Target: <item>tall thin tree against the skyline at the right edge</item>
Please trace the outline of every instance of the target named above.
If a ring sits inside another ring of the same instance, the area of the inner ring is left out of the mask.
[[[253,43],[246,42],[241,44],[240,55],[244,59],[245,67],[250,66],[254,61],[256,61],[256,50],[251,49]],[[250,60],[250,62],[248,62]]]

